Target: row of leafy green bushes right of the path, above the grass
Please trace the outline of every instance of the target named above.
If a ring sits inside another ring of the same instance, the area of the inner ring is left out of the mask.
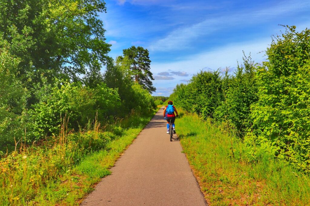
[[[295,29],[273,36],[262,65],[245,56],[233,75],[201,71],[170,98],[234,131],[249,161],[269,153],[310,172],[310,30]]]

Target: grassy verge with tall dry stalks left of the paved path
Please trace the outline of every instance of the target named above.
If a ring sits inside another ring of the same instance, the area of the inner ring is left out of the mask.
[[[55,137],[0,161],[0,205],[78,205],[150,121],[155,110],[114,125]]]

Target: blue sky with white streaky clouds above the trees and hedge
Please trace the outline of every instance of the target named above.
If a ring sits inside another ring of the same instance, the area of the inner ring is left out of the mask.
[[[200,70],[216,70],[242,62],[242,50],[255,62],[265,60],[271,36],[279,24],[310,28],[310,1],[244,0],[106,0],[100,14],[109,56],[122,49],[149,50],[153,95],[169,96]]]

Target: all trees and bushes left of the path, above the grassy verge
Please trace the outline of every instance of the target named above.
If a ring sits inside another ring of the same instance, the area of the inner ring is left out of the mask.
[[[64,117],[77,131],[96,114],[104,121],[153,108],[131,79],[139,75],[144,88],[152,85],[148,51],[138,47],[139,58],[111,63],[98,16],[105,11],[103,0],[0,0],[1,151],[14,150],[22,138],[56,135]],[[136,60],[141,70],[130,69]]]

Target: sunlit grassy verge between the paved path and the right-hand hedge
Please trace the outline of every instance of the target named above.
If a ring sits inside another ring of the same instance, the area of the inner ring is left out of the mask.
[[[248,161],[239,140],[178,109],[184,153],[210,205],[310,205],[310,178],[262,153]]]

